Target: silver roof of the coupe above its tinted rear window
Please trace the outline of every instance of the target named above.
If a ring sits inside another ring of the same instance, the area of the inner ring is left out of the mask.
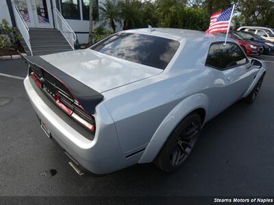
[[[196,30],[190,30],[190,29],[154,28],[153,31],[150,31],[148,28],[143,28],[143,29],[130,29],[130,30],[125,30],[121,32],[147,34],[151,36],[169,38],[177,41],[186,40],[186,42],[216,42],[216,41],[225,40],[223,36],[219,36],[217,34],[206,33],[204,31],[196,31]]]

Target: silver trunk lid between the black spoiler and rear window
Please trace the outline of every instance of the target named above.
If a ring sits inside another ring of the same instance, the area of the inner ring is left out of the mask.
[[[99,93],[162,72],[159,68],[136,64],[91,49],[43,55],[41,58]]]

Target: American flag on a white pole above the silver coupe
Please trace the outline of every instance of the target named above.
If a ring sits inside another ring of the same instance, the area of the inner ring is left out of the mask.
[[[221,33],[229,30],[229,21],[232,17],[234,6],[227,8],[223,12],[217,12],[210,16],[210,27],[206,31],[207,33]]]

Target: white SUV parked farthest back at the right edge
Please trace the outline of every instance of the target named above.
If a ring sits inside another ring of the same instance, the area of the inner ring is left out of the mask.
[[[273,29],[267,28],[267,27],[239,27],[237,31],[248,31],[251,33],[254,33],[266,40],[269,40],[271,42],[274,42],[274,31]]]

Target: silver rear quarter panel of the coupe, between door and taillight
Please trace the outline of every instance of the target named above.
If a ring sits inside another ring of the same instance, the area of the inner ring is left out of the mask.
[[[223,98],[223,79],[218,70],[207,66],[163,72],[127,86],[103,93],[103,103],[112,115],[123,152],[134,152],[146,148],[162,122],[171,120],[165,140],[182,116],[169,115],[180,102],[195,94],[202,94],[207,100],[196,103],[188,101],[184,111],[203,107],[207,120],[216,115]]]

